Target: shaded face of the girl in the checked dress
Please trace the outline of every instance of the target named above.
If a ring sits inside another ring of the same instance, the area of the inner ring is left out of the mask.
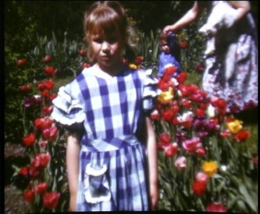
[[[112,68],[122,62],[122,40],[119,34],[90,35],[89,42],[96,63],[103,68]]]

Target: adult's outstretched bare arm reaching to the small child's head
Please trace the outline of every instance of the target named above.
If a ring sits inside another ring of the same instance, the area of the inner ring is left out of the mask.
[[[175,24],[167,25],[164,27],[163,31],[164,33],[168,33],[169,31],[177,31],[181,28],[184,28],[184,26],[187,26],[191,22],[195,21],[200,14],[200,11],[202,8],[198,5],[198,2],[195,1],[193,4],[193,7],[182,17],[180,18]]]

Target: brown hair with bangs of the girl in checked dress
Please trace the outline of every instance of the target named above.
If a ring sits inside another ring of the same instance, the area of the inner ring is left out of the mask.
[[[84,16],[85,40],[89,47],[88,57],[90,63],[96,63],[89,46],[90,35],[101,35],[104,38],[110,35],[121,35],[122,44],[125,46],[125,58],[132,61],[135,53],[132,47],[135,46],[131,41],[132,26],[128,23],[125,10],[118,1],[96,1],[85,12]]]

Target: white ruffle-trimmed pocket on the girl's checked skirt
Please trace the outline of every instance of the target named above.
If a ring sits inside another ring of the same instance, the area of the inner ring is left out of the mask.
[[[87,203],[96,204],[110,200],[111,192],[105,172],[107,165],[99,167],[87,164],[84,176],[84,195]]]

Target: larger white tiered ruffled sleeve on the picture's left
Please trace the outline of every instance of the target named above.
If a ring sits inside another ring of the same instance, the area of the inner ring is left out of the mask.
[[[53,112],[51,117],[60,124],[68,125],[80,123],[85,120],[84,102],[76,81],[62,86],[57,97],[53,99]]]

